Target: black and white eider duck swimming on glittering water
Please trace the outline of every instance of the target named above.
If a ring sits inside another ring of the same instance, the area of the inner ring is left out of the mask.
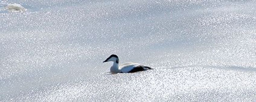
[[[104,62],[113,61],[113,65],[110,67],[111,73],[134,73],[138,71],[151,70],[151,67],[144,66],[139,63],[124,63],[119,66],[119,58],[117,55],[110,55]]]

